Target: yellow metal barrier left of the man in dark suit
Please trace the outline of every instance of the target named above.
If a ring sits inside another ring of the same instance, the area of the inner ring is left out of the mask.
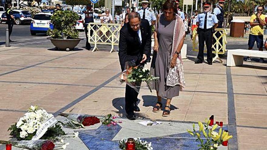
[[[95,45],[92,52],[98,50],[97,44],[111,45],[110,53],[113,52],[114,45],[119,45],[120,28],[116,23],[89,23],[88,42]]]

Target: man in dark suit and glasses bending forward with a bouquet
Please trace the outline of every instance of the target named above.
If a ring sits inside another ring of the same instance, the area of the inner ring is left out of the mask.
[[[151,51],[151,29],[149,22],[141,20],[137,12],[128,15],[129,22],[120,29],[119,58],[121,71],[125,70],[125,63],[134,60],[135,65],[144,65]],[[134,111],[139,112],[137,106],[138,92],[126,85],[125,110],[127,118],[134,120]]]

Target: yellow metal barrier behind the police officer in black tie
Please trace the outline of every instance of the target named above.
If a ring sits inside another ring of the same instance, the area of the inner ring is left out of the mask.
[[[226,34],[227,34],[226,29],[215,28],[215,33],[213,34],[213,40],[215,39],[216,42],[213,42],[212,44],[212,50],[213,50],[212,53],[215,53],[216,56],[213,58],[212,62],[214,62],[216,59],[218,59],[221,63],[223,62],[221,58],[219,58],[218,54],[224,54],[226,52],[226,43],[227,43]],[[193,51],[198,51],[197,28],[194,28],[192,35],[193,35]],[[218,35],[218,37],[216,35]],[[204,52],[207,52],[206,45],[204,45]]]

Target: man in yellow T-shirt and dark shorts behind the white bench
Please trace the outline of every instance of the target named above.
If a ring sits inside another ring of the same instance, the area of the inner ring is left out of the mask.
[[[251,50],[256,41],[259,51],[263,51],[263,26],[266,25],[265,15],[262,14],[263,7],[258,6],[257,13],[253,14],[250,18],[250,33],[248,38],[248,49]],[[251,59],[247,57],[246,61]],[[263,58],[260,58],[260,62],[264,62]]]

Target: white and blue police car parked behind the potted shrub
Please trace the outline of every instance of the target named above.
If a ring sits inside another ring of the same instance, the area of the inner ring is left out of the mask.
[[[51,13],[38,13],[32,18],[30,25],[31,35],[36,35],[36,33],[46,33],[47,30],[54,29],[51,23]]]

